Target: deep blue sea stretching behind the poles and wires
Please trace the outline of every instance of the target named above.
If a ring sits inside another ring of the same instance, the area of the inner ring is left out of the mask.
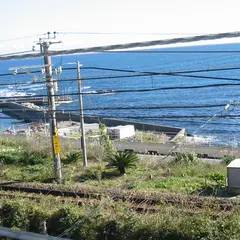
[[[156,51],[155,51],[156,50]],[[219,51],[219,52],[199,52],[199,53],[161,53],[162,51]],[[127,78],[107,78],[106,76],[130,75],[134,73],[115,72],[110,70],[84,69],[86,67],[115,68],[134,71],[152,71],[152,72],[181,72],[194,70],[208,70],[213,68],[240,68],[240,52],[230,52],[240,50],[240,44],[218,44],[202,45],[188,47],[171,47],[161,49],[151,49],[153,52],[111,52],[111,53],[91,53],[76,54],[68,56],[56,56],[52,58],[54,67],[73,68],[76,61],[80,61],[82,66],[81,76],[83,78],[95,78],[94,80],[85,80],[82,84],[83,92],[95,92],[98,90],[128,90],[128,89],[152,89],[174,86],[196,86],[218,83],[238,83],[237,80],[219,80],[221,78],[239,78],[240,70],[227,71],[206,71],[197,73],[188,73],[189,75],[198,75],[200,77],[190,78],[182,76],[137,76]],[[229,51],[229,52],[221,52]],[[22,59],[1,61],[0,73],[11,73],[8,68],[16,66],[29,66],[43,64],[42,58]],[[38,68],[39,69],[39,68]],[[32,69],[38,70],[38,69]],[[19,72],[21,72],[19,70]],[[59,75],[54,76],[60,80],[76,78],[76,70],[63,70]],[[140,75],[140,74],[139,74]],[[41,74],[38,74],[41,76]],[[211,79],[204,79],[201,76],[210,76]],[[98,79],[99,78],[99,79]],[[28,75],[1,76],[0,97],[10,96],[34,96],[46,94],[46,86],[43,82],[31,84],[33,77]],[[20,83],[13,85],[14,83]],[[60,81],[59,91],[61,93],[77,92],[76,81]],[[73,96],[76,100],[71,104],[60,105],[59,109],[78,109],[78,96]],[[205,104],[227,104],[230,100],[240,101],[239,86],[221,86],[196,89],[175,89],[164,91],[148,92],[123,92],[108,93],[101,95],[87,94],[83,95],[85,108],[91,107],[143,107],[160,105],[205,105]],[[208,115],[213,116],[223,109],[223,106],[213,108],[179,108],[179,109],[124,109],[124,110],[87,110],[85,114],[107,115],[107,116],[136,116],[136,121],[152,122],[161,125],[177,126],[185,128],[187,133],[195,133],[202,138],[211,139],[212,143],[238,145],[240,142],[240,119],[239,118],[214,118],[204,127],[203,124],[209,118],[179,118],[179,119],[141,119],[144,116],[172,116],[172,115]],[[230,107],[223,111],[222,115],[239,115],[240,107]],[[1,114],[1,117],[4,115]],[[7,129],[9,126],[20,124],[14,119],[0,119],[1,129]]]

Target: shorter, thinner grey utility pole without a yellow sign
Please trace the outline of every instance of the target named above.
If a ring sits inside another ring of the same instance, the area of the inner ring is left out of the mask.
[[[81,148],[83,154],[83,166],[87,167],[87,150],[85,142],[85,132],[84,132],[84,117],[83,117],[83,101],[82,101],[82,81],[80,76],[80,63],[77,61],[77,80],[78,80],[78,93],[79,93],[79,110],[80,110],[80,125],[81,125]]]

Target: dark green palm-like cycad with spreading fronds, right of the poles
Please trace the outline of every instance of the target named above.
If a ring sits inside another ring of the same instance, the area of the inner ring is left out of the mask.
[[[139,157],[134,152],[116,152],[108,156],[109,167],[116,167],[121,175],[124,175],[126,168],[136,167]]]

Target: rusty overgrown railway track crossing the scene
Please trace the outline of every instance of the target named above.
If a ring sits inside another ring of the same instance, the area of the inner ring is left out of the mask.
[[[0,184],[0,190],[5,191],[0,193],[0,197],[14,197],[16,193],[34,194],[31,196],[23,196],[29,199],[43,199],[44,196],[52,197],[62,202],[71,201],[78,205],[83,205],[89,202],[99,202],[106,197],[110,197],[114,201],[121,201],[140,212],[156,212],[160,206],[165,204],[175,205],[181,208],[189,208],[200,210],[204,208],[218,209],[218,211],[231,211],[233,209],[240,209],[240,202],[233,201],[227,198],[213,198],[201,197],[194,195],[180,195],[180,194],[164,194],[153,193],[151,196],[144,194],[105,190],[90,190],[90,189],[70,189],[66,186],[49,185],[49,184],[31,184],[31,183],[14,183],[14,184]],[[7,194],[6,192],[10,192]],[[20,196],[18,194],[18,196]]]

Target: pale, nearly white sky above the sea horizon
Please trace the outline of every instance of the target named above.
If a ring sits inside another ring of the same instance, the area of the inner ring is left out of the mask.
[[[62,50],[240,30],[239,0],[0,0],[0,4],[0,54],[31,50],[48,31],[59,32],[57,40],[63,41],[51,50]]]

